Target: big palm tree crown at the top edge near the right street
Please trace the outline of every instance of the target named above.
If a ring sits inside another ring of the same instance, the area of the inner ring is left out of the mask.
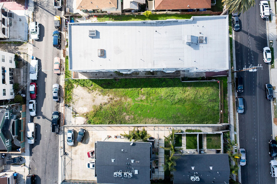
[[[228,10],[230,12],[245,12],[252,6],[255,6],[255,0],[222,0],[223,6],[226,6],[226,9],[224,10],[221,15],[224,15]]]

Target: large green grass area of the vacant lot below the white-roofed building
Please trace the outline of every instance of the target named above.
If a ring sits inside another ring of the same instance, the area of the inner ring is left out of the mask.
[[[179,78],[69,79],[68,89],[73,83],[98,91],[99,95],[112,96],[109,103],[94,106],[93,111],[86,114],[89,124],[219,122],[217,82],[182,83]]]

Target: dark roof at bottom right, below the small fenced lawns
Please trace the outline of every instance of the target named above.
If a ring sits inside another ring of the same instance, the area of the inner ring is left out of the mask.
[[[174,184],[229,183],[228,154],[176,155]]]

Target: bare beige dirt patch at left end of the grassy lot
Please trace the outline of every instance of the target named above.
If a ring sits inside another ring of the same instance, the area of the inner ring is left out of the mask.
[[[115,100],[112,95],[101,95],[98,91],[89,90],[86,87],[77,86],[73,89],[73,107],[80,115],[93,110],[93,105],[101,105]],[[75,95],[76,94],[76,95]]]

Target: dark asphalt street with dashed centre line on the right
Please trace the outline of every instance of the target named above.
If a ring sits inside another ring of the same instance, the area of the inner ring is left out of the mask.
[[[237,72],[243,77],[245,112],[238,115],[240,148],[247,151],[247,164],[241,166],[242,184],[275,183],[270,175],[269,140],[272,138],[271,104],[266,100],[264,85],[269,83],[269,64],[264,63],[262,50],[267,46],[266,21],[260,16],[259,1],[241,13],[241,29],[235,33],[236,69],[261,64],[256,72]]]

